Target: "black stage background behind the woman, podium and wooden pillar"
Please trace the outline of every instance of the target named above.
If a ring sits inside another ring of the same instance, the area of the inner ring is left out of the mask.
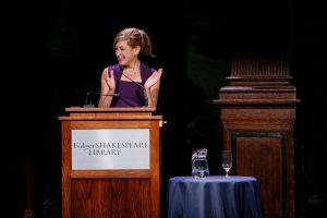
[[[168,179],[190,174],[193,149],[207,147],[210,174],[222,173],[222,129],[213,99],[228,85],[233,55],[249,51],[290,57],[301,99],[294,126],[296,217],[326,210],[327,22],[319,1],[46,0],[5,9],[1,160],[11,217],[22,217],[25,208],[36,217],[60,217],[58,117],[65,107],[83,106],[87,92],[99,90],[102,69],[116,63],[114,35],[128,26],[148,33],[157,58],[146,63],[164,69],[158,102],[167,121],[164,209]],[[90,100],[97,102],[95,96]]]

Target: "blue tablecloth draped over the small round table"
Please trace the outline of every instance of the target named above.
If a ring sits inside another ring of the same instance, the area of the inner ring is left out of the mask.
[[[262,194],[252,177],[174,177],[169,180],[168,218],[263,218]]]

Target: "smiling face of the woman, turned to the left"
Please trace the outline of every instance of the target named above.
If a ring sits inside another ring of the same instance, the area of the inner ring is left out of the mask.
[[[116,44],[114,52],[120,65],[131,66],[137,60],[140,47],[132,48],[128,40],[120,40]]]

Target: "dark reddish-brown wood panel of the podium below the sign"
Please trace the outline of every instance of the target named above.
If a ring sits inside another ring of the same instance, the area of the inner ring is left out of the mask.
[[[149,179],[72,181],[72,218],[150,218]]]

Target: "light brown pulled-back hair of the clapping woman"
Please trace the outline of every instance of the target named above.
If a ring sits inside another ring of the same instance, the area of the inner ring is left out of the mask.
[[[119,32],[113,40],[113,50],[116,49],[116,44],[118,44],[121,40],[126,40],[128,45],[132,48],[140,46],[141,50],[138,57],[155,57],[153,55],[150,38],[143,29],[128,27]]]

